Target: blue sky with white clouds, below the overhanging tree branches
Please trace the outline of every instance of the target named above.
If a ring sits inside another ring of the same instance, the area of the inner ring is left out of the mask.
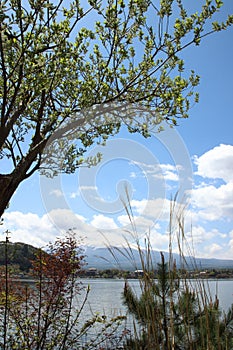
[[[222,14],[233,13],[233,2],[225,3]],[[233,258],[232,43],[230,28],[183,53],[186,69],[201,77],[200,102],[176,129],[149,139],[122,130],[90,151],[103,153],[97,167],[52,180],[35,174],[17,190],[1,231],[43,246],[75,228],[85,244],[121,245],[132,239],[122,203],[127,187],[139,237],[150,233],[153,248],[167,250],[170,199],[179,191],[175,211],[187,206],[185,232],[196,256]]]

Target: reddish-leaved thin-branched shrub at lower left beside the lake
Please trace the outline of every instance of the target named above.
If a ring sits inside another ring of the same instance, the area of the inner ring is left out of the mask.
[[[106,342],[117,349],[125,337],[124,316],[83,317],[90,287],[79,278],[85,265],[79,243],[70,230],[46,250],[38,249],[32,285],[10,278],[6,258],[0,273],[1,349],[100,349]],[[6,239],[6,253],[8,244]]]

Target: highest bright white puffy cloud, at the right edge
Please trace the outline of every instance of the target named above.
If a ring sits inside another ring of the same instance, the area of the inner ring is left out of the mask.
[[[233,181],[233,146],[220,144],[202,156],[195,157],[197,175],[212,179]]]

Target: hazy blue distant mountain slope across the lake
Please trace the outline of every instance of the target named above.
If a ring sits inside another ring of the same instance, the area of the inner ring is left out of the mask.
[[[84,247],[86,262],[88,267],[95,267],[99,270],[118,268],[122,270],[134,270],[135,268],[141,268],[141,259],[137,249],[130,248],[95,248],[95,247]],[[112,251],[112,253],[110,252]],[[169,260],[169,253],[163,252],[166,261]],[[156,267],[157,263],[161,262],[161,255],[159,251],[152,251],[151,256],[153,264]],[[174,261],[176,262],[177,268],[182,267],[182,259],[179,254],[172,254]],[[185,257],[186,268],[190,270],[197,269],[233,269],[233,260],[227,259],[206,259],[206,258],[194,258]]]

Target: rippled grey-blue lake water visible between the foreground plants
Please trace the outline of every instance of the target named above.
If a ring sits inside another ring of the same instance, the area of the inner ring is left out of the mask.
[[[196,282],[192,281],[195,285]],[[80,315],[80,321],[85,322],[90,319],[94,314],[105,315],[108,319],[116,316],[127,315],[127,309],[122,303],[122,293],[124,289],[124,280],[121,279],[82,279],[84,287],[90,287],[90,293],[88,295],[87,303],[83,308],[83,312]],[[139,280],[129,280],[129,284],[133,287],[137,294],[140,294]],[[227,311],[231,304],[233,304],[233,280],[205,280],[201,281],[201,285],[204,285],[212,296],[212,300],[215,300],[217,294],[219,299],[220,308]],[[77,304],[81,305],[84,291],[78,297]],[[90,332],[82,338],[83,344],[95,338],[95,335],[100,332],[101,325],[96,325]],[[128,329],[134,334],[135,323],[133,318],[129,315],[127,319],[119,328],[119,332],[124,329]],[[136,326],[137,328],[137,326]],[[119,333],[120,334],[120,333]],[[112,347],[113,349],[116,347]]]

